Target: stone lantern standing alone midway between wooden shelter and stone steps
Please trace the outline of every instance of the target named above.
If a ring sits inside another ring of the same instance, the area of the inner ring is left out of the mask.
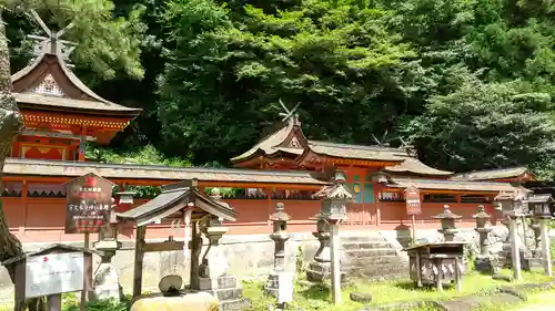
[[[280,289],[279,274],[285,270],[285,241],[289,240],[287,221],[291,216],[284,211],[283,203],[279,203],[275,207],[275,212],[270,215],[270,220],[273,222],[273,234],[270,238],[274,241],[274,267],[268,277],[265,292],[278,298]],[[281,284],[286,286],[286,284]]]

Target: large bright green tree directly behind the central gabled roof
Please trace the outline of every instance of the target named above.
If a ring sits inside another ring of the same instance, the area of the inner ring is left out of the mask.
[[[311,137],[342,142],[370,143],[414,110],[408,99],[424,82],[387,27],[393,12],[366,1],[275,3],[169,2],[158,110],[165,151],[226,162],[276,121],[279,99],[302,103]]]

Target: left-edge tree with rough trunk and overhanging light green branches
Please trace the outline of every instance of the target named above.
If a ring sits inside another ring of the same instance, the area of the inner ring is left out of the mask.
[[[83,54],[91,53],[88,59],[91,65],[100,70],[105,76],[111,73],[107,71],[107,64],[112,61],[121,61],[122,66],[129,73],[140,75],[140,64],[137,62],[137,41],[130,37],[132,31],[128,28],[118,28],[124,23],[119,19],[115,23],[111,17],[113,6],[109,1],[3,1],[0,3],[0,182],[6,157],[11,151],[13,138],[22,128],[22,118],[18,105],[11,94],[12,85],[10,77],[10,54],[3,14],[6,10],[26,12],[30,9],[48,9],[53,11],[56,20],[63,22],[67,19],[74,20],[74,27],[69,37],[77,39],[81,44]],[[121,50],[114,50],[121,49]],[[83,55],[81,54],[81,55]],[[79,55],[79,53],[78,53]],[[79,58],[79,56],[78,56]],[[94,60],[94,61],[92,61]],[[0,186],[0,194],[3,186]],[[0,199],[0,261],[22,255],[21,242],[13,236],[8,227]],[[8,269],[13,280],[13,270]],[[31,300],[29,310],[44,308],[42,300]]]

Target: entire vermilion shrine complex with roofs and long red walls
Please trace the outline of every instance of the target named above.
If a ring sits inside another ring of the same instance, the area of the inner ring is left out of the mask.
[[[320,203],[312,194],[329,184],[334,169],[344,172],[355,196],[342,230],[407,229],[404,189],[411,185],[422,195],[418,228],[436,228],[432,216],[445,204],[463,216],[460,227],[474,226],[472,215],[478,204],[493,214],[492,201],[500,191],[533,179],[525,168],[454,175],[426,166],[411,149],[311,141],[292,113],[279,129],[234,157],[233,169],[92,163],[84,156],[87,142],[109,144],[141,111],[92,92],[58,52],[43,51],[12,75],[12,83],[26,131],[6,163],[3,200],[10,229],[24,242],[82,240],[81,235],[63,234],[63,183],[87,173],[121,189],[192,178],[201,187],[243,188],[243,195],[224,198],[239,215],[235,222],[226,224],[232,235],[270,234],[268,218],[278,201],[292,216],[290,231],[314,230],[311,218]],[[137,198],[134,204],[147,199]],[[168,236],[168,224],[152,227],[149,238]]]

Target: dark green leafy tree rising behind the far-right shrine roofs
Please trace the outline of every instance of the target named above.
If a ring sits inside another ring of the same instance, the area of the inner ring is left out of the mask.
[[[456,92],[432,96],[426,112],[403,127],[425,160],[458,173],[526,165],[542,178],[555,177],[549,94],[517,82],[484,83],[470,72],[460,82]]]

